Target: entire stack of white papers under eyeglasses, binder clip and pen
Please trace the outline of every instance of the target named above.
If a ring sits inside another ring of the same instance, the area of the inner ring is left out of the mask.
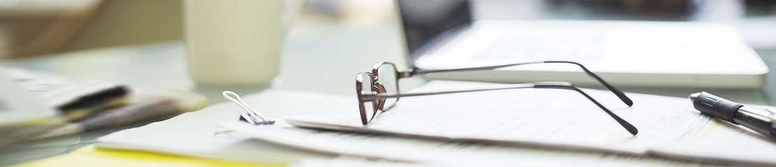
[[[432,81],[413,91],[490,84]],[[269,118],[283,118],[274,125],[237,121],[241,108],[223,103],[107,135],[96,146],[277,163],[355,155],[439,166],[776,164],[774,143],[699,114],[688,99],[628,94],[635,105],[627,107],[608,91],[584,91],[634,124],[639,135],[630,135],[600,108],[568,90],[402,98],[369,126],[353,121],[359,117],[355,97],[265,90],[243,99]]]

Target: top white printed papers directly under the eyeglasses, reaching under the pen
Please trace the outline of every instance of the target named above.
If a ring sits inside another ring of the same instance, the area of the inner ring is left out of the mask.
[[[499,84],[432,81],[411,92],[494,85]],[[305,128],[776,164],[774,141],[702,115],[687,98],[627,94],[634,101],[628,107],[607,90],[583,90],[636,126],[639,134],[629,134],[577,92],[548,89],[401,98],[367,126],[361,124],[355,107],[343,108],[350,114],[285,120]]]

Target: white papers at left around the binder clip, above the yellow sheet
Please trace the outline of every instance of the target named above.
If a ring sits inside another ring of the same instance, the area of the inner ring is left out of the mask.
[[[298,105],[306,99],[315,101],[306,101],[309,106]],[[243,100],[266,116],[279,118],[341,108],[351,98],[290,90],[265,90],[260,94],[245,96]],[[237,104],[215,104],[166,121],[114,132],[98,138],[96,147],[247,162],[289,163],[301,158],[334,157],[331,154],[253,140],[250,136],[229,132],[214,125],[216,121],[237,121],[242,112]]]

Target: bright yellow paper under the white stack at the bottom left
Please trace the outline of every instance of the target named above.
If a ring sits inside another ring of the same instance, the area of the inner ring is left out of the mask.
[[[284,164],[240,162],[209,158],[187,158],[174,155],[161,155],[147,152],[129,152],[97,149],[94,145],[64,155],[26,162],[16,167],[32,166],[266,166],[280,167]]]

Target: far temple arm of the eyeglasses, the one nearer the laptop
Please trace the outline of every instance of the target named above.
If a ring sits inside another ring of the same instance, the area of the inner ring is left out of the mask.
[[[460,68],[460,69],[447,69],[447,70],[422,70],[422,69],[411,69],[407,73],[400,73],[400,77],[411,77],[416,74],[426,74],[426,73],[445,73],[445,72],[457,72],[457,71],[470,71],[470,70],[496,70],[508,66],[520,66],[525,64],[537,64],[537,63],[571,63],[575,64],[577,66],[580,66],[582,70],[584,70],[584,73],[587,73],[587,76],[593,77],[595,80],[598,80],[598,83],[601,83],[606,87],[607,90],[610,90],[611,93],[614,93],[617,97],[620,98],[620,101],[624,102],[625,104],[628,104],[628,106],[633,106],[633,101],[627,96],[625,96],[625,93],[622,93],[622,91],[618,90],[615,87],[612,87],[609,83],[606,83],[601,77],[598,77],[598,75],[595,75],[595,73],[591,72],[590,70],[587,70],[586,67],[582,66],[580,63],[576,62],[570,62],[570,61],[538,61],[538,62],[526,62],[526,63],[511,63],[511,64],[504,64],[499,66],[482,66],[482,67],[472,67],[472,68]]]

